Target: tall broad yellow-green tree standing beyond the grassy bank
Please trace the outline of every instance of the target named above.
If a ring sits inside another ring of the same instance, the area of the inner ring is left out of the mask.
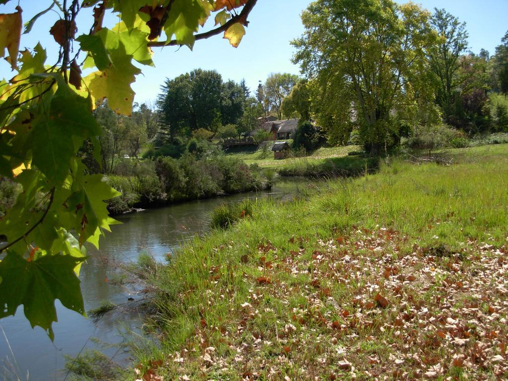
[[[311,80],[313,111],[329,136],[347,136],[356,122],[367,148],[397,143],[402,124],[394,118],[414,116],[432,99],[429,18],[391,0],[325,0],[302,13],[294,62]]]

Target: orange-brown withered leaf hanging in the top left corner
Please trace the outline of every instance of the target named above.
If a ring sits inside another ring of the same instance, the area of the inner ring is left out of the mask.
[[[0,57],[4,57],[5,49],[9,52],[11,67],[17,68],[19,40],[21,39],[21,7],[16,7],[16,13],[0,14]]]

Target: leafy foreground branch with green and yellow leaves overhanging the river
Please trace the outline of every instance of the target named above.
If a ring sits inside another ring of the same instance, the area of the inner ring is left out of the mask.
[[[14,3],[4,0],[0,7]],[[256,0],[34,2],[42,12],[25,24],[25,32],[40,34],[39,28],[33,29],[37,18],[44,13],[55,17],[48,31],[59,48],[54,62],[47,62],[41,44],[19,50],[22,9],[15,4],[2,9],[6,13],[0,14],[0,56],[7,50],[15,73],[0,81],[0,176],[20,184],[23,192],[0,219],[0,232],[7,237],[0,246],[0,318],[14,315],[23,305],[31,326],[41,326],[53,338],[56,299],[85,313],[77,277],[86,259],[84,244],[98,246],[103,231],[115,223],[104,200],[118,196],[102,175],[89,174],[77,156],[86,143],[96,161],[102,161],[102,130],[93,108],[107,98],[116,113],[131,114],[131,84],[141,73],[137,66],[153,65],[150,47],[192,48],[195,41],[218,34],[238,46],[255,4]],[[90,7],[93,12],[87,10]],[[109,11],[118,16],[118,24],[103,24]],[[199,33],[214,14],[217,26]],[[83,78],[82,69],[91,69],[90,74]]]

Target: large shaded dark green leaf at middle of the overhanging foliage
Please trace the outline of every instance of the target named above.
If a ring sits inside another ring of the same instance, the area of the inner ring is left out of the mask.
[[[100,134],[101,128],[91,114],[91,100],[79,96],[59,81],[49,113],[35,125],[31,136],[32,164],[53,185],[59,185],[67,177],[70,159],[79,148],[77,143],[82,143],[89,135]]]

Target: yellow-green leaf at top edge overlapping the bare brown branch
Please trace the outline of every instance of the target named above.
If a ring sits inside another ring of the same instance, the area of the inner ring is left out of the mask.
[[[164,33],[168,40],[175,36],[179,44],[193,48],[200,21],[208,16],[203,5],[197,0],[175,0],[171,5]]]

